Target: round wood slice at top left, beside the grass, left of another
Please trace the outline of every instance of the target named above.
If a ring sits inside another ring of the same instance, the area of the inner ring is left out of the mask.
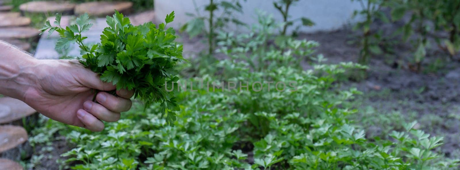
[[[19,6],[19,10],[23,13],[62,13],[64,15],[73,14],[74,8],[73,3],[57,1],[30,1]]]

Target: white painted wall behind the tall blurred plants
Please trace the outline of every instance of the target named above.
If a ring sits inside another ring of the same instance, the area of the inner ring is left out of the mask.
[[[218,0],[214,0],[218,1]],[[257,9],[272,14],[276,20],[282,22],[281,13],[273,6],[274,0],[241,0],[244,14],[236,15],[245,23],[257,23]],[[195,0],[200,7],[201,15],[207,14],[203,6],[209,3],[209,0]],[[174,28],[178,28],[186,23],[190,17],[186,12],[196,13],[193,0],[155,0],[155,20],[164,22],[167,14],[175,11],[176,18],[170,23]],[[316,23],[313,27],[302,27],[300,31],[311,33],[316,31],[332,31],[341,28],[347,23],[356,21],[352,19],[353,11],[362,9],[357,1],[351,0],[300,0],[290,8],[291,18],[308,17]],[[237,14],[237,13],[236,13]],[[297,23],[300,24],[300,21]],[[235,29],[235,28],[232,28]]]

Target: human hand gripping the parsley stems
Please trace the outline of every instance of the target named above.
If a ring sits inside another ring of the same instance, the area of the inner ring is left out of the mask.
[[[59,122],[84,127],[92,131],[104,130],[104,123],[120,119],[128,111],[133,91],[116,91],[113,96],[104,91],[115,90],[98,74],[84,68],[76,60],[37,60],[31,74],[34,84],[24,92],[23,101],[46,117]],[[32,84],[32,83],[30,83]],[[92,102],[94,89],[97,102]]]

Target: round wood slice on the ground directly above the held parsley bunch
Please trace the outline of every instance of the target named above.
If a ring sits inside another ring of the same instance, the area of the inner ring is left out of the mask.
[[[127,14],[131,12],[131,7],[132,2],[86,2],[75,7],[75,14],[88,13],[90,16],[105,17],[114,14],[115,10]]]

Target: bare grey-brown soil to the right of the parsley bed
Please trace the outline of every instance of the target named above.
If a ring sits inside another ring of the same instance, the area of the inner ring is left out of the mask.
[[[360,49],[349,43],[350,40],[356,40],[354,36],[357,34],[350,28],[343,28],[334,32],[302,34],[299,38],[319,42],[317,53],[323,54],[330,63],[338,63],[357,61]],[[416,73],[408,67],[413,51],[411,45],[402,43],[392,48],[396,51],[395,55],[374,56],[371,59],[367,79],[345,82],[344,88],[356,87],[363,92],[354,102],[360,112],[372,107],[377,114],[393,116],[391,113],[398,112],[408,122],[417,120],[418,128],[444,137],[442,152],[446,156],[458,157],[460,63],[449,61],[445,52],[433,47],[427,53],[424,70]],[[438,58],[442,61],[440,66],[434,64]],[[381,131],[385,127],[364,128]]]

